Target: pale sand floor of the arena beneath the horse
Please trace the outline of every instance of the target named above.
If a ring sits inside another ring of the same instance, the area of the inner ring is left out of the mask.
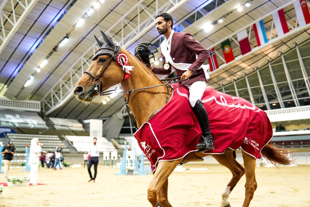
[[[174,207],[219,206],[221,192],[231,179],[230,171],[219,164],[184,164],[184,168],[208,168],[206,171],[173,172],[169,178],[168,199]],[[310,166],[256,168],[258,188],[251,207],[309,207]],[[47,185],[5,187],[0,206],[5,207],[147,207],[147,187],[152,175],[114,175],[120,169],[98,166],[96,182],[89,179],[86,168],[64,170],[39,169],[38,183]],[[11,169],[10,176],[27,175]],[[4,178],[0,174],[0,182]],[[232,207],[241,207],[245,193],[245,176],[232,191]]]

